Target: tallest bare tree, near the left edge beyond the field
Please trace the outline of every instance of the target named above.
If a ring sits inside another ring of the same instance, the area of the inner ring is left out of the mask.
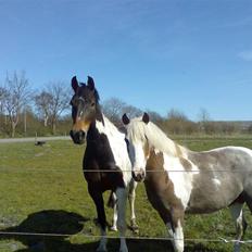
[[[14,72],[11,77],[7,74],[4,89],[3,106],[11,123],[11,136],[14,137],[15,128],[20,121],[20,114],[27,104],[32,93],[28,79],[25,77],[25,72],[22,72],[20,75]]]

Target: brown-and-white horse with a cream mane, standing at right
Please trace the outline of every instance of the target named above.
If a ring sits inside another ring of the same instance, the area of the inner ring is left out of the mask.
[[[149,115],[129,119],[127,128],[133,177],[144,180],[148,199],[159,212],[177,252],[184,251],[185,213],[204,214],[229,207],[236,224],[234,251],[247,228],[244,203],[252,212],[252,151],[223,147],[190,151],[171,140]]]

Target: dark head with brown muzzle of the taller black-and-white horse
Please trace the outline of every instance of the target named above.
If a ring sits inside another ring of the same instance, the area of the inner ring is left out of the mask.
[[[88,129],[97,118],[99,94],[94,81],[88,76],[86,84],[78,84],[76,76],[72,78],[74,96],[71,100],[73,128],[70,135],[74,143],[83,144],[86,141]]]

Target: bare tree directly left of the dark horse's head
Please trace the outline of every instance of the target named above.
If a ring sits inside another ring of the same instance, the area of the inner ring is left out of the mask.
[[[49,118],[52,125],[52,133],[55,134],[60,116],[70,109],[71,91],[68,85],[62,81],[54,81],[48,84],[46,92],[50,97]]]

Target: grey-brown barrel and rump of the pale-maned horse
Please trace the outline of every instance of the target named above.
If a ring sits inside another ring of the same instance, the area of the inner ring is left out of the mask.
[[[193,176],[189,212],[214,212],[231,204],[242,192],[252,193],[252,151],[225,147],[190,152],[199,168]]]

